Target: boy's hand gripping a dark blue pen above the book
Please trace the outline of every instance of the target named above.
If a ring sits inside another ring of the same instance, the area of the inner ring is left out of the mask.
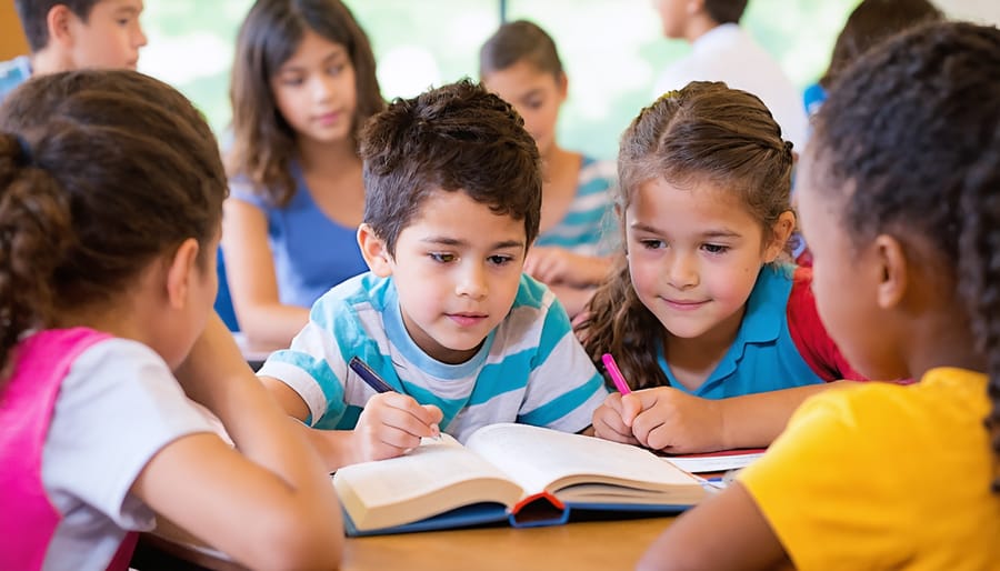
[[[357,357],[348,367],[378,393],[369,399],[354,427],[359,461],[398,457],[417,448],[421,438],[440,438],[441,409],[397,391]]]

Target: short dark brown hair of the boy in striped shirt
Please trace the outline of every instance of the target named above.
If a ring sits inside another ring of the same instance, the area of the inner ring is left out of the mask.
[[[538,236],[541,166],[510,103],[463,79],[396,99],[361,131],[364,222],[394,254],[399,233],[434,192],[461,191]]]

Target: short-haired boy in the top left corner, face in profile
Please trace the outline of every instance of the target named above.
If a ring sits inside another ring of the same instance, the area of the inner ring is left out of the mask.
[[[14,0],[31,56],[0,62],[0,101],[36,73],[136,69],[142,0]]]

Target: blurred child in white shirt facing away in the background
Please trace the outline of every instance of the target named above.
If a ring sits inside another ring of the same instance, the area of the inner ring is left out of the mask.
[[[670,66],[656,83],[653,97],[691,81],[724,81],[759,97],[781,126],[781,134],[801,151],[806,111],[801,98],[778,62],[740,28],[747,0],[656,0],[663,36],[686,40],[691,53]]]

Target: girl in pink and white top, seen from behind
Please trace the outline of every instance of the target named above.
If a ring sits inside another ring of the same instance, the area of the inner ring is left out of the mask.
[[[211,312],[226,188],[199,112],[140,73],[0,107],[0,569],[127,569],[159,517],[248,567],[339,565],[326,470]]]

